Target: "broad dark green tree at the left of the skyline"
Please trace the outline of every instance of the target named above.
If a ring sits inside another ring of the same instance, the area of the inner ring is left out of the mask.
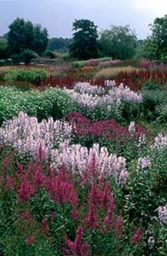
[[[9,25],[7,41],[11,54],[21,53],[26,49],[41,54],[47,47],[47,40],[47,29],[42,29],[41,25],[33,25],[31,21],[17,18]]]

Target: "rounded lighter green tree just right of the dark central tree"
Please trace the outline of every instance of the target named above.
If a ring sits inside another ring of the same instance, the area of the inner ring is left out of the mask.
[[[112,25],[101,33],[100,45],[102,55],[114,59],[130,59],[135,54],[137,37],[129,25]]]

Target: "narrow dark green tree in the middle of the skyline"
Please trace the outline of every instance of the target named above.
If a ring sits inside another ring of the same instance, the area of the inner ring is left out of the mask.
[[[69,45],[69,53],[77,59],[91,59],[98,55],[97,26],[89,19],[73,22],[73,40]]]

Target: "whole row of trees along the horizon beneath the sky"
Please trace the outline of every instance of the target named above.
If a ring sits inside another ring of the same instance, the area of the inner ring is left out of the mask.
[[[37,55],[54,57],[51,51],[61,50],[76,59],[105,56],[167,60],[167,15],[150,24],[151,33],[144,40],[138,40],[129,25],[112,25],[98,33],[98,26],[89,19],[75,20],[72,31],[72,38],[48,39],[47,29],[17,18],[9,25],[9,32],[0,37],[0,59],[11,57],[15,62],[29,63]]]

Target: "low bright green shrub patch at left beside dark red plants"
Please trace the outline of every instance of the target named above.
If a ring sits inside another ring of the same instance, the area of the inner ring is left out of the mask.
[[[12,68],[6,72],[4,80],[12,81],[27,81],[29,83],[39,83],[47,77],[48,72],[41,68]]]

